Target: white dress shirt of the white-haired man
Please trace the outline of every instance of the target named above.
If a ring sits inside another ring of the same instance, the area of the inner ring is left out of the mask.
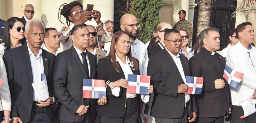
[[[33,83],[41,82],[41,74],[44,73],[42,49],[40,48],[39,53],[37,54],[37,56],[35,56],[34,53],[31,51],[31,49],[28,46],[28,53],[29,53],[29,58],[30,58],[30,63],[31,63],[31,68],[32,68]],[[39,101],[39,99],[35,93],[35,90],[34,90],[33,101]]]

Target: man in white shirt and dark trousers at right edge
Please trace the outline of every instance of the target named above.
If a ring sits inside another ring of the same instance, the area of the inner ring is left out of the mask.
[[[254,29],[250,22],[239,24],[236,28],[236,36],[239,42],[231,47],[227,54],[227,65],[244,73],[237,88],[230,86],[233,109],[231,110],[230,123],[255,123],[256,113],[241,119],[243,108],[240,102],[252,98],[256,103],[256,49],[251,44],[254,40]]]

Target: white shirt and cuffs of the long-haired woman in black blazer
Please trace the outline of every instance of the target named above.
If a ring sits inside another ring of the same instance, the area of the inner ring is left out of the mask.
[[[116,54],[115,54],[116,55]],[[129,65],[129,58],[126,57],[126,61],[125,63],[122,62],[116,55],[116,61],[119,62],[123,72],[124,72],[124,76],[125,76],[125,79],[127,80],[128,79],[128,74],[133,74],[132,72],[132,69]],[[115,96],[118,96],[119,95],[119,92],[120,92],[120,87],[114,87],[112,90],[112,94],[115,95]],[[141,95],[141,99],[143,102],[148,102],[149,101],[149,95],[148,94],[140,94]],[[127,98],[135,98],[136,97],[136,94],[133,94],[133,93],[127,93]]]

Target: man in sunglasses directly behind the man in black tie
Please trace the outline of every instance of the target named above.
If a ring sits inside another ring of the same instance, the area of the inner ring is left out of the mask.
[[[94,26],[87,25],[86,26],[89,30],[90,37],[89,37],[89,45],[86,48],[87,51],[92,53],[97,57],[97,61],[99,61],[100,58],[105,57],[106,52],[98,48],[98,42],[96,42],[97,38],[97,32]]]

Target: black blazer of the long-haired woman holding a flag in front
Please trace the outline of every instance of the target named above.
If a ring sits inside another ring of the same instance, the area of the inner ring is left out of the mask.
[[[105,82],[107,81],[113,82],[121,78],[125,79],[124,72],[120,65],[119,65],[119,68],[120,68],[120,72],[117,72],[111,62],[111,59],[106,57],[101,58],[98,61],[97,79],[105,80]],[[139,74],[139,71],[140,71],[139,69],[138,71],[132,69],[133,74]],[[111,88],[107,85],[106,96],[107,96],[107,104],[99,107],[98,115],[106,116],[106,117],[114,117],[114,118],[123,117],[126,111],[126,107],[125,107],[126,88],[120,87],[119,96],[116,97],[112,94]],[[140,97],[139,94],[137,94],[137,111],[140,111],[139,97]]]

